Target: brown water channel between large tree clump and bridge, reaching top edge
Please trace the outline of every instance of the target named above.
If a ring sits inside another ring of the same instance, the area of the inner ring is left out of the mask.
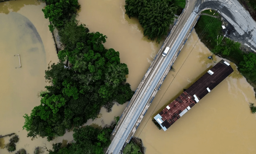
[[[81,5],[78,20],[90,32],[100,32],[107,36],[106,48],[114,48],[120,53],[122,63],[129,69],[127,82],[136,90],[147,72],[162,42],[143,36],[143,30],[136,18],[125,14],[125,0],[78,0]]]

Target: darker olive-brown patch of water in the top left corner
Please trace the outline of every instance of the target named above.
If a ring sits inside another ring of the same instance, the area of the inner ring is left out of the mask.
[[[19,11],[25,5],[39,5],[38,0],[10,0],[6,2],[0,1],[0,13],[9,14],[9,10],[13,12]]]

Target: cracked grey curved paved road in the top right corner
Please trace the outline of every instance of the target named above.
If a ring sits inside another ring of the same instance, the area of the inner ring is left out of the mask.
[[[228,37],[248,44],[256,52],[256,22],[237,0],[204,0],[199,11],[206,8],[218,9],[218,13],[232,25],[227,28]]]

